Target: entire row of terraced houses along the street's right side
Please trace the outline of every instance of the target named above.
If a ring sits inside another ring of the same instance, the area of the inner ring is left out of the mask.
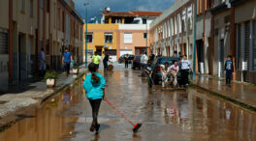
[[[150,24],[150,48],[172,56],[174,50],[193,61],[194,15],[196,24],[196,71],[225,77],[224,64],[233,57],[233,79],[256,83],[255,0],[176,1]],[[246,10],[246,11],[244,11]]]

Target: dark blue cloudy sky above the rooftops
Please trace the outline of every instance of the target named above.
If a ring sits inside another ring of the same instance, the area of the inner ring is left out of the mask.
[[[110,7],[112,12],[128,11],[164,11],[176,0],[74,0],[76,9],[85,17],[83,3],[88,2],[88,19],[94,16],[100,17],[100,11]]]

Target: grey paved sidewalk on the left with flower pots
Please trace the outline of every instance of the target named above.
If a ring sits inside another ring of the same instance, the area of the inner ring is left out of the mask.
[[[46,80],[42,80],[30,84],[31,89],[22,93],[8,93],[0,96],[0,129],[16,121],[16,111],[25,111],[26,107],[39,106],[44,100],[70,85],[84,72],[84,65],[81,65],[79,75],[73,75],[71,72],[66,76],[65,72],[61,73],[54,88],[47,88]]]

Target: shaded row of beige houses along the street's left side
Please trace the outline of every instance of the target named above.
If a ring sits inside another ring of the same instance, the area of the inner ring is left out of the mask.
[[[0,8],[2,89],[37,75],[41,48],[48,70],[61,69],[64,46],[80,62],[83,20],[72,0],[0,0]]]

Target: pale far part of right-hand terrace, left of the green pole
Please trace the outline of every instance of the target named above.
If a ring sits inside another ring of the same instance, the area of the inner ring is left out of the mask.
[[[174,51],[193,59],[194,1],[176,1],[149,27],[150,49],[153,53],[173,56]]]

